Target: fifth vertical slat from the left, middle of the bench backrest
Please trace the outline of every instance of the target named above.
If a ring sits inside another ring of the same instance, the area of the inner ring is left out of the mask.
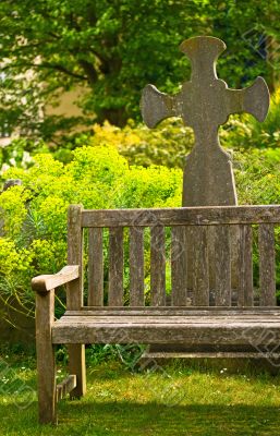
[[[173,306],[185,306],[187,303],[185,230],[183,226],[171,228],[171,304]]]

